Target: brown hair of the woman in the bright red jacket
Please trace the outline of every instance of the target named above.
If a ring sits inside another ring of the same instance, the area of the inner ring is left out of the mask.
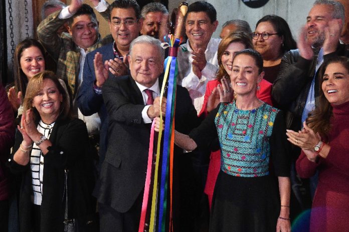
[[[242,31],[232,32],[228,36],[223,38],[221,40],[221,43],[219,43],[217,52],[219,71],[217,73],[216,78],[218,80],[221,80],[223,77],[228,75],[227,71],[225,71],[222,65],[222,56],[231,43],[242,43],[243,45],[245,45],[245,49],[253,49],[251,37]]]

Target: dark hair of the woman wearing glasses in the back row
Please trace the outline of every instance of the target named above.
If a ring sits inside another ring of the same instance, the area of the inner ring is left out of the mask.
[[[283,18],[276,15],[264,16],[262,19],[258,20],[256,28],[262,22],[271,23],[276,33],[279,34],[278,36],[283,37],[283,46],[281,47],[283,53],[297,48],[297,43],[293,39],[290,27]]]

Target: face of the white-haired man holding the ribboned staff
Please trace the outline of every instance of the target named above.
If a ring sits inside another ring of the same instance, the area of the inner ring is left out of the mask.
[[[163,72],[163,57],[157,47],[147,43],[135,44],[128,56],[132,78],[150,88]]]

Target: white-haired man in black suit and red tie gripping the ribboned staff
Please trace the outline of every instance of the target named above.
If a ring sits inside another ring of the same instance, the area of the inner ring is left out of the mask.
[[[150,125],[160,111],[165,113],[166,107],[165,98],[162,105],[159,104],[163,56],[160,41],[140,36],[130,46],[131,74],[110,77],[103,85],[109,127],[107,152],[95,189],[101,231],[138,230]],[[95,67],[96,76],[103,75],[101,60],[95,62]],[[189,131],[198,125],[198,118],[185,88],[177,87],[176,101],[176,130]],[[176,221],[175,216],[173,221]]]

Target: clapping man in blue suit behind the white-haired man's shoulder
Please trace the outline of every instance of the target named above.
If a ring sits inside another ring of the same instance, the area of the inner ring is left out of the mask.
[[[84,115],[98,112],[101,119],[99,164],[105,157],[108,130],[102,86],[108,77],[129,73],[127,66],[129,46],[132,40],[138,37],[140,31],[140,9],[135,0],[116,0],[109,6],[108,11],[110,12],[109,28],[114,42],[87,54],[83,82],[77,96],[78,107]],[[103,62],[103,75],[96,77],[94,62]]]

